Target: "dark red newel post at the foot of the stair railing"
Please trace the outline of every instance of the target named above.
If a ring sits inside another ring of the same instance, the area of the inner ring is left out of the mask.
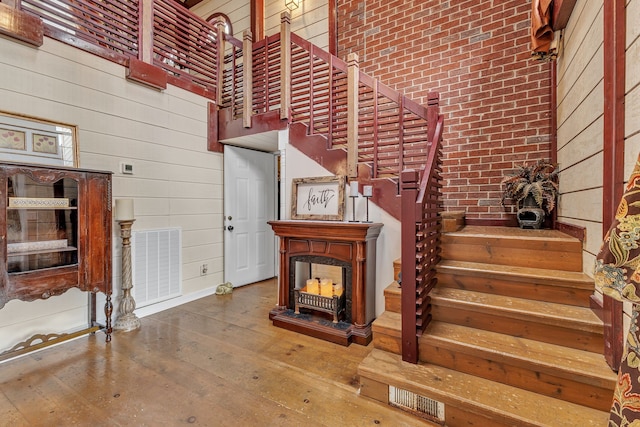
[[[401,260],[402,260],[402,360],[418,363],[418,329],[416,325],[416,201],[420,173],[414,169],[400,175],[401,196]]]

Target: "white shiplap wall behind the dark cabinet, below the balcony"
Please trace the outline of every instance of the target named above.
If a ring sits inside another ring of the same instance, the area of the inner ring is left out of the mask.
[[[80,166],[115,172],[113,198],[134,199],[135,230],[182,229],[182,300],[213,293],[223,279],[223,159],[206,149],[208,100],[128,82],[123,67],[49,38],[40,48],[0,38],[0,75],[0,111],[78,126]],[[121,162],[134,174],[120,174]],[[117,295],[121,242],[113,229]],[[204,263],[209,274],[200,276]],[[36,332],[83,326],[86,302],[76,290],[9,302],[0,310],[0,352]]]

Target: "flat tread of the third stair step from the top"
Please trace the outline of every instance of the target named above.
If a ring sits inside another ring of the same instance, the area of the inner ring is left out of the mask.
[[[522,320],[534,317],[540,323],[554,326],[571,323],[581,330],[602,333],[602,321],[587,307],[437,286],[431,291],[431,298],[438,306],[465,306],[483,313],[499,310],[505,317]]]

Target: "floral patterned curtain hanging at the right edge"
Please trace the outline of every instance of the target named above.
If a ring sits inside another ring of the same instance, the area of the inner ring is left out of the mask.
[[[596,288],[633,304],[631,327],[613,394],[609,426],[640,427],[640,157],[594,271]]]

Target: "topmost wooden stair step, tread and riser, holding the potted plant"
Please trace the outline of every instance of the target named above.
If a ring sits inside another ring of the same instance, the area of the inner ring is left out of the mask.
[[[443,233],[442,258],[582,271],[582,242],[558,230],[465,226]]]

